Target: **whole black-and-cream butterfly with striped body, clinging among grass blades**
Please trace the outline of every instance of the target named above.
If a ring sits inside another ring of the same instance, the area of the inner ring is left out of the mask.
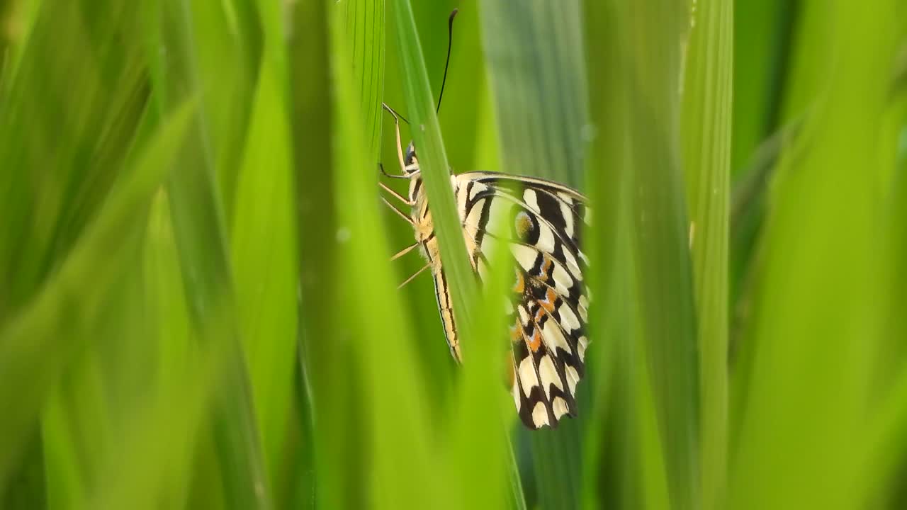
[[[411,208],[407,214],[385,197],[382,200],[414,229],[415,242],[396,253],[395,260],[420,249],[431,270],[444,336],[451,355],[462,362],[456,312],[450,283],[434,235],[432,212],[424,191],[413,142],[405,152],[400,142],[399,116],[394,115],[397,157],[406,179],[406,196],[379,182],[397,200]],[[590,220],[588,201],[567,186],[552,181],[497,172],[451,175],[463,238],[473,271],[487,278],[488,259],[499,242],[506,242],[514,259],[513,299],[509,316],[511,355],[509,385],[514,405],[526,427],[557,427],[562,417],[575,417],[576,387],[585,373],[589,339],[589,291],[583,275],[589,259],[581,250],[582,227]]]

